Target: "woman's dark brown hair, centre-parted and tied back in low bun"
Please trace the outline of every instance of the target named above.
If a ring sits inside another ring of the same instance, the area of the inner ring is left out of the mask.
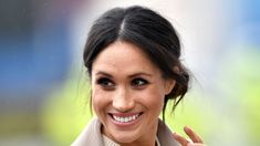
[[[168,101],[174,100],[174,111],[186,94],[189,82],[189,74],[179,61],[180,41],[174,27],[148,8],[135,6],[108,10],[94,22],[85,44],[83,59],[90,77],[97,54],[118,40],[137,45],[159,67],[165,79],[176,81],[173,91],[165,96],[165,119]]]

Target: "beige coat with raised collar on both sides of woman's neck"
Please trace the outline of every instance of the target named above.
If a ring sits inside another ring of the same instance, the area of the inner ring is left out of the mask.
[[[160,146],[179,146],[173,138],[173,133],[162,121],[159,121],[157,137]],[[104,146],[100,121],[97,118],[93,118],[72,146]]]

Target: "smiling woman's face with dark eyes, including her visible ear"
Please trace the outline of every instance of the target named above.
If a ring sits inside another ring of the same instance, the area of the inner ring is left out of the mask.
[[[91,74],[92,104],[102,133],[119,144],[154,139],[164,97],[174,81],[163,79],[142,50],[127,42],[105,48]]]

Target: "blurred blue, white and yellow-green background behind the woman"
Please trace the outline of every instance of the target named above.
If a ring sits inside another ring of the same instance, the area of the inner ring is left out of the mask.
[[[166,123],[209,146],[260,145],[260,1],[0,0],[0,146],[70,145],[90,121],[82,61],[91,23],[141,4],[183,42],[190,91]]]

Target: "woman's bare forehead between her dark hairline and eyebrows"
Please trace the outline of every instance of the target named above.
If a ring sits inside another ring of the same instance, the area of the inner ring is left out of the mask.
[[[96,56],[92,72],[98,71],[126,75],[136,72],[159,73],[159,69],[141,48],[124,41],[112,43]]]

